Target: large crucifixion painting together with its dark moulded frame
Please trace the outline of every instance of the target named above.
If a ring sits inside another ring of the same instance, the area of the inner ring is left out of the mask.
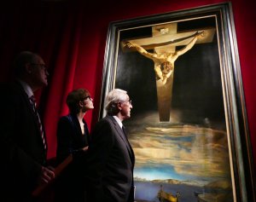
[[[137,202],[254,201],[230,3],[111,22],[100,118],[114,88],[132,100]]]

